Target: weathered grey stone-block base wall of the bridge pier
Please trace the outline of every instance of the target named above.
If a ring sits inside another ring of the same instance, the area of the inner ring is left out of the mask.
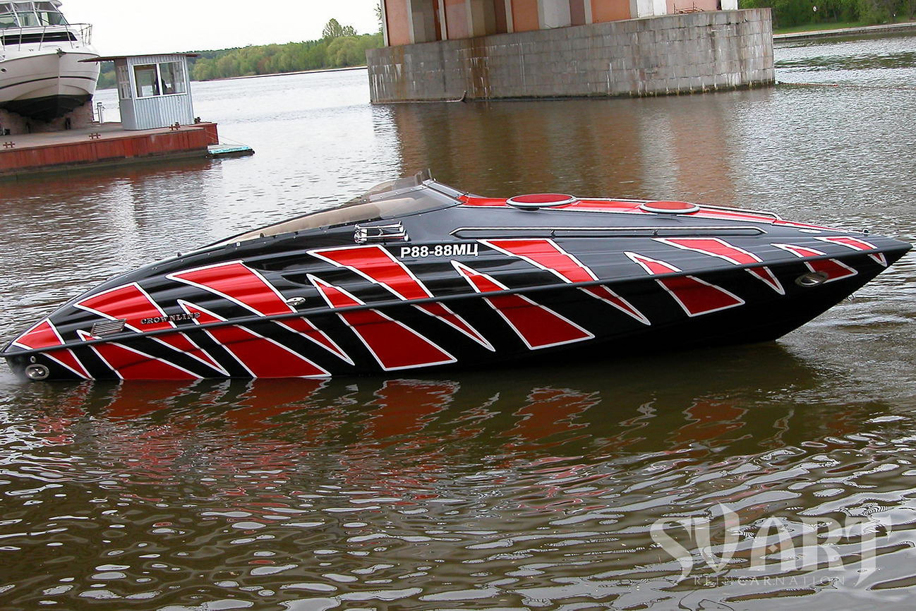
[[[366,53],[372,102],[662,95],[774,82],[769,8],[627,19]]]

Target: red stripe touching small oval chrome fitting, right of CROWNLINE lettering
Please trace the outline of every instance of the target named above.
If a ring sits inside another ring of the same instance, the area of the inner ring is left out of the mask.
[[[241,261],[231,261],[213,266],[188,269],[178,274],[169,274],[166,278],[177,280],[208,290],[220,297],[255,312],[259,316],[273,316],[294,312],[280,292],[251,267]],[[319,344],[334,355],[353,365],[350,357],[334,344],[333,340],[322,333],[311,322],[304,318],[275,321],[280,326],[300,333],[315,344]]]

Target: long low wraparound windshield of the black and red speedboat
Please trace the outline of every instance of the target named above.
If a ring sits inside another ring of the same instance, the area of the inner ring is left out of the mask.
[[[455,198],[462,194],[462,191],[456,191],[432,180],[427,172],[421,172],[411,178],[383,182],[337,208],[303,214],[289,221],[234,235],[210,246],[440,210],[460,204],[461,202]]]

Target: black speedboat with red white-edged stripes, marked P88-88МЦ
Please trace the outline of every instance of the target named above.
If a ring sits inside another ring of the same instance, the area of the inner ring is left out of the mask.
[[[384,375],[776,339],[903,256],[687,202],[428,174],[112,278],[7,344],[29,379]]]

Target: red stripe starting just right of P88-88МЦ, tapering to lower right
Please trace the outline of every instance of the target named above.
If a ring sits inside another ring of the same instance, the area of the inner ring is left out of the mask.
[[[598,279],[591,268],[585,266],[582,261],[563,250],[560,245],[551,239],[480,240],[480,243],[508,256],[518,256],[518,258],[528,261],[535,267],[551,272],[557,278],[562,279],[563,282],[593,282]],[[651,324],[649,319],[634,308],[629,301],[607,287],[594,286],[586,287],[582,290],[599,300],[611,304],[617,310],[632,316],[643,324]]]

